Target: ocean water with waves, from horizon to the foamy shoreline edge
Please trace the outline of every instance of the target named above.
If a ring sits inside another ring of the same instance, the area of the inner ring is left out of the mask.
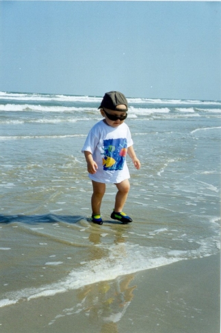
[[[130,98],[127,124],[142,163],[111,220],[90,223],[81,147],[101,97],[0,93],[0,305],[55,295],[220,251],[221,101]]]

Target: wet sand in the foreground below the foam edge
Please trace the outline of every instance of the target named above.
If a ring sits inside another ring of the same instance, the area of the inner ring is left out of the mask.
[[[1,308],[1,332],[220,332],[220,256]]]

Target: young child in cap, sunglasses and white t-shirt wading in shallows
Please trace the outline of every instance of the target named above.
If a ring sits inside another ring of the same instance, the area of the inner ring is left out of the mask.
[[[111,218],[122,223],[132,222],[131,217],[122,212],[130,188],[127,153],[136,169],[140,169],[140,161],[133,150],[129,127],[124,123],[127,118],[127,99],[118,91],[105,93],[99,109],[104,119],[92,127],[81,150],[93,186],[92,221],[103,223],[100,209],[105,184],[114,183],[118,192]]]

